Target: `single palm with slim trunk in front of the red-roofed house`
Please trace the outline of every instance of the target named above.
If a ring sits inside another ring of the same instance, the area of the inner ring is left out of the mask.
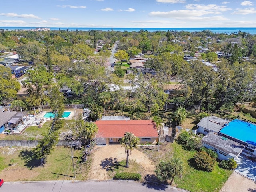
[[[126,156],[126,165],[125,167],[129,167],[129,152],[132,154],[132,150],[137,148],[140,140],[138,137],[134,136],[131,132],[125,132],[124,136],[119,141],[122,144],[122,147],[125,147]]]

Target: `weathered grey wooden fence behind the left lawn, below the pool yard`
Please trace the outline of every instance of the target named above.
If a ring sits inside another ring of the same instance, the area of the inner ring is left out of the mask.
[[[72,141],[59,140],[56,146],[69,146]],[[39,141],[37,140],[0,140],[1,147],[17,146],[17,147],[35,147]]]

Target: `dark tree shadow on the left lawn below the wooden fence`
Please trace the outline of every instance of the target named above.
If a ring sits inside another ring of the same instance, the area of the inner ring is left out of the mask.
[[[32,150],[22,150],[19,154],[19,158],[24,160],[25,166],[32,170],[35,167],[40,166],[40,160],[33,158],[34,152]]]

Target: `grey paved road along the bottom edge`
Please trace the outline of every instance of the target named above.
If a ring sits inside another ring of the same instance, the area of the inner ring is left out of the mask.
[[[128,181],[4,182],[0,192],[180,192],[171,186]]]

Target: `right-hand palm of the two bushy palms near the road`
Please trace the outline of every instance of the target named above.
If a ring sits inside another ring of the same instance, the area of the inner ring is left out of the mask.
[[[172,158],[170,160],[170,176],[172,177],[171,183],[173,182],[173,179],[175,176],[181,177],[182,174],[184,173],[184,166],[183,162],[180,160],[180,158]]]

